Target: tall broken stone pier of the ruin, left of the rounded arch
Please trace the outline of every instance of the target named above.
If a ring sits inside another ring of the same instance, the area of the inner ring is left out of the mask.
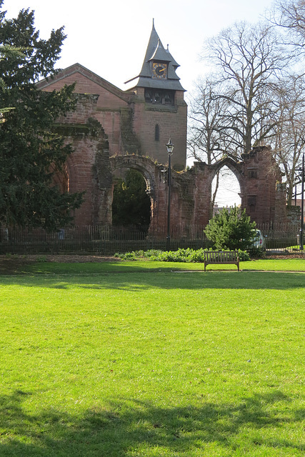
[[[76,111],[56,125],[56,131],[74,149],[66,161],[66,174],[56,176],[56,184],[71,193],[84,192],[84,203],[74,212],[76,225],[112,221],[109,144],[99,121],[92,117],[97,102],[98,96],[79,94]]]

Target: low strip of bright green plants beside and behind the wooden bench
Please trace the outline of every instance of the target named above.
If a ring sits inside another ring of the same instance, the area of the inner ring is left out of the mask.
[[[132,251],[127,253],[116,253],[115,256],[124,260],[139,260],[139,258],[148,258],[150,261],[155,262],[162,261],[203,263],[205,251],[209,251],[209,249],[179,248],[176,251],[161,251],[159,249],[150,249],[149,251]],[[249,253],[247,253],[246,251],[239,250],[239,260],[249,261]]]

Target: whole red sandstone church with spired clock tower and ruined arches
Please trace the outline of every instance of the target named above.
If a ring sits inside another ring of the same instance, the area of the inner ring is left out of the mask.
[[[144,64],[122,91],[81,64],[40,81],[53,91],[76,83],[76,111],[59,119],[58,131],[74,148],[56,184],[71,192],[85,191],[75,211],[76,225],[111,225],[114,178],[136,169],[146,181],[151,224],[166,224],[168,156],[171,156],[171,224],[207,224],[211,216],[211,185],[227,166],[239,181],[241,208],[256,223],[286,221],[286,190],[268,147],[256,147],[236,162],[223,157],[213,165],[196,162],[186,169],[187,106],[176,69],[179,64],[152,28]]]

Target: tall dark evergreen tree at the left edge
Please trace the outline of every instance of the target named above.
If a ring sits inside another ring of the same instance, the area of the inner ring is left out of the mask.
[[[10,109],[0,125],[0,222],[54,230],[71,223],[71,211],[82,199],[55,185],[66,180],[71,146],[54,126],[74,109],[74,86],[43,92],[36,81],[56,73],[65,36],[61,28],[48,40],[39,39],[29,9],[16,19],[5,19],[5,14],[0,12],[0,47],[14,46],[15,51],[2,53],[0,60],[0,106]]]

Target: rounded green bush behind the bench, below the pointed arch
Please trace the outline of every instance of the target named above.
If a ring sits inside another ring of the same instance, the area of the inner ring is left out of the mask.
[[[224,208],[209,221],[204,233],[216,249],[246,249],[253,236],[256,223],[251,222],[246,210],[237,206]]]

